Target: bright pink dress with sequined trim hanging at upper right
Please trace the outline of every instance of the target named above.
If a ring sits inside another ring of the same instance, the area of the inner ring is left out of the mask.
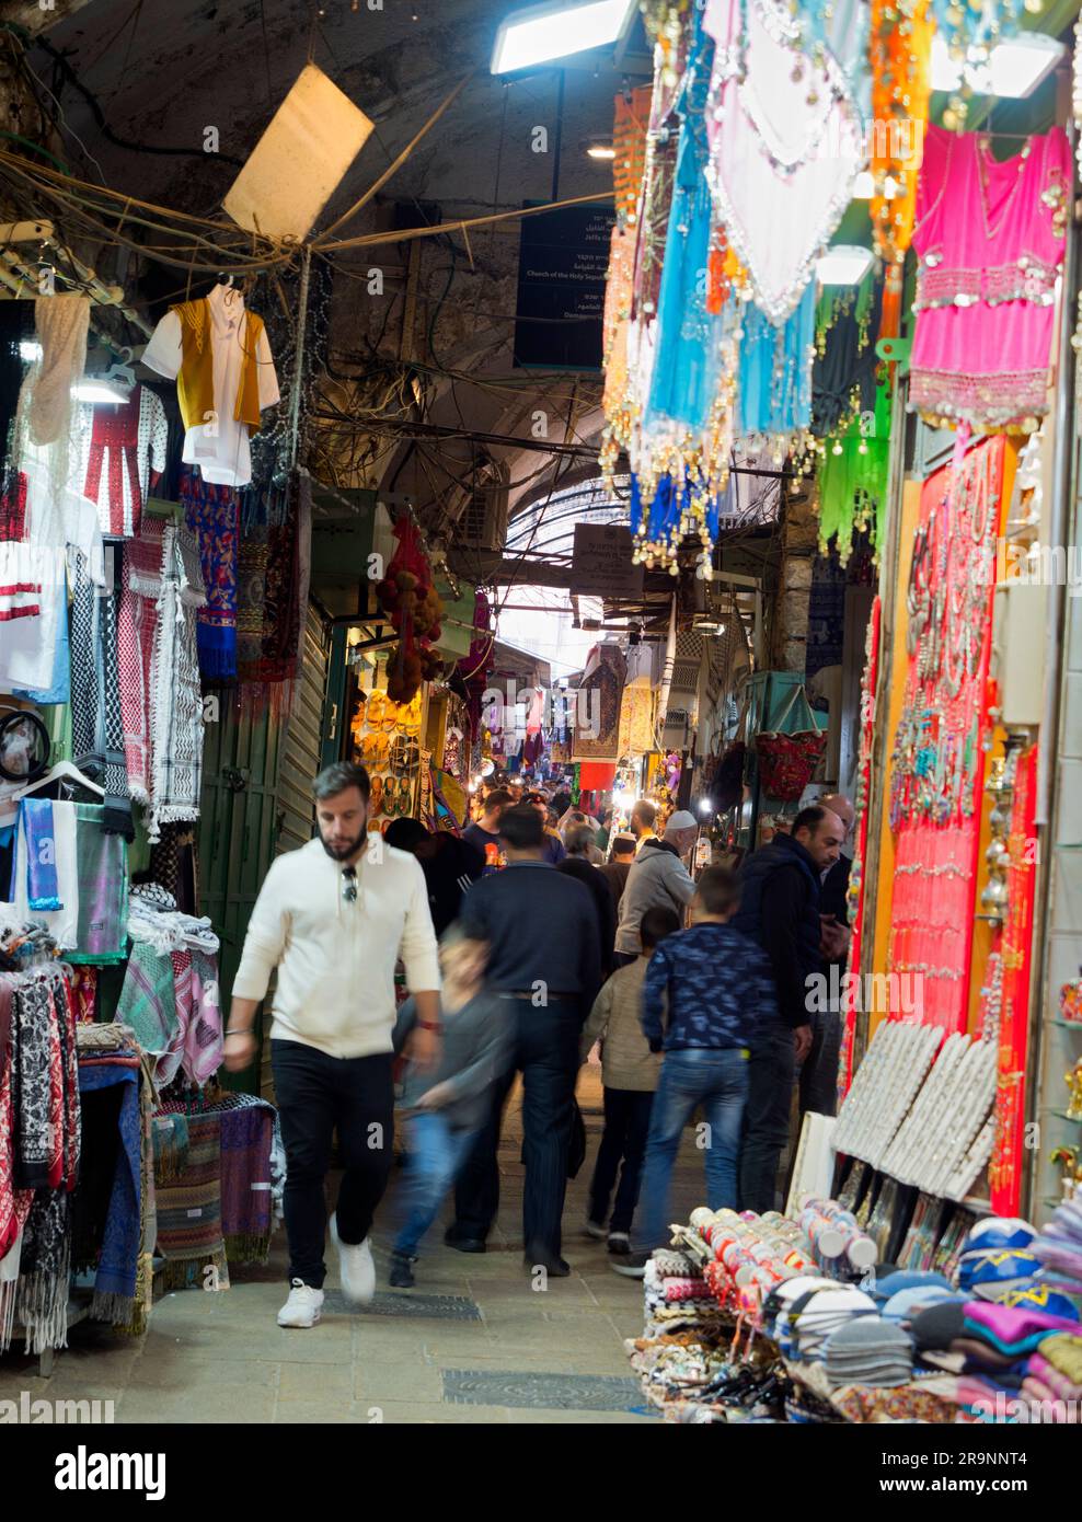
[[[995,432],[1047,411],[1070,186],[1062,128],[1003,161],[982,134],[927,128],[910,356],[922,412]]]

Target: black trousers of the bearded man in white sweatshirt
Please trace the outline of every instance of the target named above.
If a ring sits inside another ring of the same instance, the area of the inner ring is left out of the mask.
[[[394,1160],[394,1084],[390,1052],[339,1058],[272,1041],[274,1093],[286,1148],[286,1236],[289,1278],[323,1288],[327,1234],[324,1181],[330,1145],[338,1145],[345,1172],[338,1190],[338,1234],[364,1242],[383,1198]]]

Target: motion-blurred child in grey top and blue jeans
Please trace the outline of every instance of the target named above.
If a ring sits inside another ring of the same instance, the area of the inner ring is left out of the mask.
[[[488,944],[461,921],[440,939],[440,1020],[443,1047],[435,1068],[409,1064],[396,1108],[406,1116],[408,1169],[403,1190],[405,1225],[391,1251],[390,1283],[414,1285],[412,1265],[422,1237],[435,1221],[443,1196],[488,1117],[492,1085],[510,1065],[514,1027],[508,1006],[484,983]],[[394,1026],[400,1052],[417,1020],[408,998]]]

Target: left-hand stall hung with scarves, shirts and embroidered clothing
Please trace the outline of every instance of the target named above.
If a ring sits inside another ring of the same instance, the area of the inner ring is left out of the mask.
[[[90,323],[0,301],[0,1352],[43,1367],[269,1253],[275,1111],[216,1084],[195,826],[204,724],[242,683],[282,702],[307,601],[307,484],[253,484],[278,390],[240,292],[166,312],[169,384],[88,390]]]

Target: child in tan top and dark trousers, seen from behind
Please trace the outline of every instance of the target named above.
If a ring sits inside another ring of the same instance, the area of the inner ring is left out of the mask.
[[[679,928],[680,919],[674,909],[656,907],[645,912],[639,922],[641,956],[618,968],[604,983],[583,1026],[580,1056],[586,1061],[594,1043],[601,1041],[604,1084],[604,1132],[590,1180],[586,1231],[598,1240],[607,1236],[610,1253],[630,1250],[650,1108],[660,1075],[660,1055],[650,1050],[650,1043],[642,1035],[642,980],[657,942]],[[619,1187],[606,1228],[616,1172]]]

